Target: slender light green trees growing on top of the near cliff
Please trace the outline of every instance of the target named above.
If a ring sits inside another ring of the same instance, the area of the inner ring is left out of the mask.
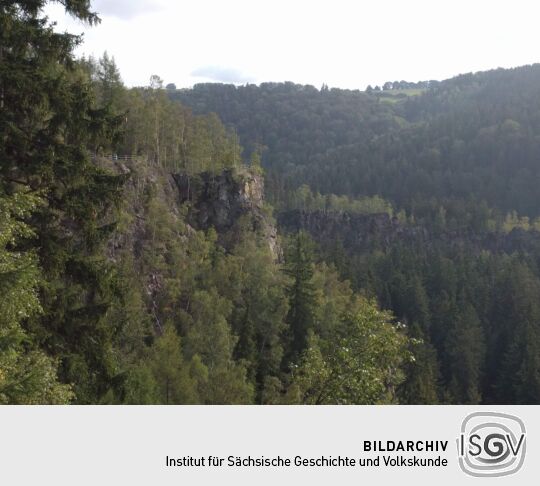
[[[236,132],[225,128],[215,114],[193,116],[171,102],[158,76],[152,76],[148,87],[126,90],[107,53],[98,61],[83,60],[83,65],[93,79],[97,106],[122,121],[121,140],[99,147],[98,152],[144,156],[190,176],[205,171],[218,174],[241,164]]]

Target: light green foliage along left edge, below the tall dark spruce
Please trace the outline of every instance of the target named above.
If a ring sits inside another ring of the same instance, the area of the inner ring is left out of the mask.
[[[0,404],[69,403],[71,387],[57,378],[57,363],[36,348],[21,326],[42,312],[38,299],[41,272],[32,251],[15,250],[34,236],[24,221],[40,199],[0,193]]]

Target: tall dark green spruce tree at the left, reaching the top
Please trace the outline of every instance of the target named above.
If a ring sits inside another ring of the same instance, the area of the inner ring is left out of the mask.
[[[78,37],[55,33],[45,1],[0,6],[0,176],[2,190],[26,191],[45,204],[31,227],[45,280],[43,313],[27,324],[75,383],[77,401],[91,402],[111,385],[111,342],[105,320],[114,272],[103,243],[114,229],[110,209],[123,178],[99,168],[88,149],[113,137],[117,120],[96,109],[92,86],[73,58]],[[61,2],[72,16],[98,21],[90,2]]]

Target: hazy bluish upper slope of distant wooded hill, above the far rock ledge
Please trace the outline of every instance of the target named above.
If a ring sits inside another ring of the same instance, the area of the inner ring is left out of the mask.
[[[385,91],[292,83],[202,84],[170,96],[217,113],[244,146],[265,147],[273,197],[308,184],[379,195],[410,211],[426,200],[472,201],[535,218],[539,81],[534,65],[429,83],[393,103]]]

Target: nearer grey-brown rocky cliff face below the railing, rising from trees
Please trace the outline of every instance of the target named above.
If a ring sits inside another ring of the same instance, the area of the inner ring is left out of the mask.
[[[107,256],[132,269],[131,285],[140,285],[157,333],[163,327],[158,308],[168,266],[177,264],[171,249],[177,247],[189,258],[189,247],[200,236],[197,230],[215,229],[217,244],[225,251],[232,250],[245,232],[256,233],[268,244],[274,260],[280,259],[277,229],[265,207],[261,176],[235,169],[187,177],[144,159],[100,163],[128,176]]]

